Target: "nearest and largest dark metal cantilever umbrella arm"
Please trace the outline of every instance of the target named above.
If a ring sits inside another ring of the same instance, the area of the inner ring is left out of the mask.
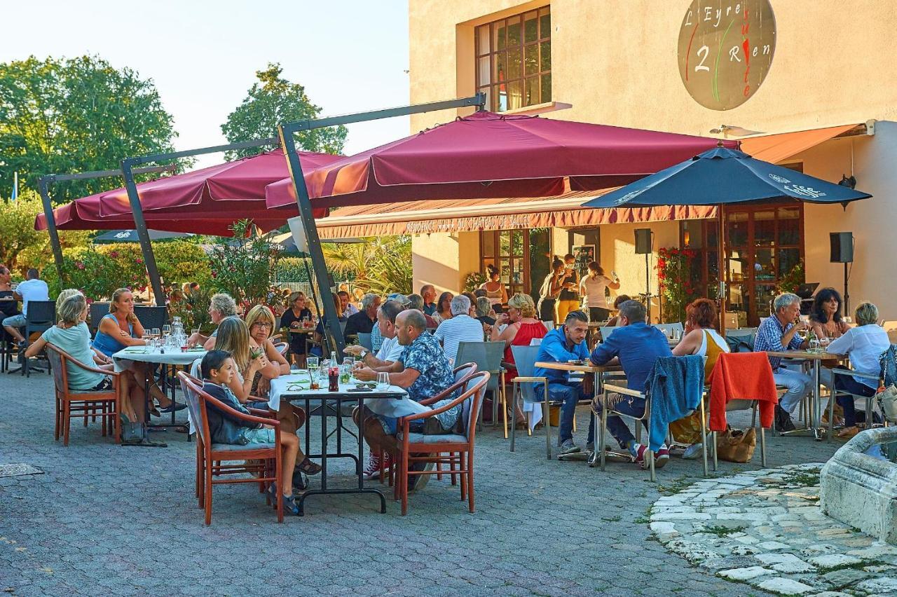
[[[483,109],[485,104],[485,94],[477,93],[475,96],[469,98],[433,101],[426,104],[417,104],[402,108],[387,108],[370,112],[361,112],[358,114],[347,114],[339,117],[318,118],[317,120],[299,120],[296,122],[284,123],[277,127],[277,134],[280,136],[283,155],[286,157],[287,161],[287,168],[290,169],[292,186],[296,192],[296,203],[299,205],[300,221],[302,222],[302,228],[305,229],[305,238],[309,244],[311,266],[314,270],[315,278],[318,280],[318,290],[320,290],[322,295],[327,290],[333,288],[333,283],[330,281],[330,275],[327,273],[327,264],[324,262],[324,252],[321,249],[321,240],[318,237],[318,227],[315,224],[315,217],[311,211],[309,189],[305,185],[305,176],[302,172],[299,156],[296,153],[296,141],[293,135],[299,131],[310,131],[326,126],[348,125],[354,122],[366,122],[369,120],[377,120],[379,118],[408,116],[435,110],[466,108],[470,106],[476,106],[479,109]],[[314,286],[313,283],[312,286]],[[337,354],[342,354],[343,349],[345,348],[345,339],[343,337],[343,331],[338,324],[339,314],[336,313],[334,301],[329,300],[327,296],[322,296],[321,304],[324,307],[324,316],[327,318],[325,332],[331,339],[331,350],[336,350]]]

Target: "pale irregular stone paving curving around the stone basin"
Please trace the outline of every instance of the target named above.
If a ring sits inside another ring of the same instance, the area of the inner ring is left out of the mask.
[[[773,593],[897,593],[897,547],[823,514],[821,468],[701,480],[658,499],[651,531],[693,564]]]

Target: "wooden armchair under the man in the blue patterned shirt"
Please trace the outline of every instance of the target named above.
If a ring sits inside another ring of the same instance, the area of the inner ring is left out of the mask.
[[[455,400],[448,402],[433,411],[416,415],[408,415],[398,420],[398,439],[402,442],[399,452],[398,475],[396,477],[396,493],[402,500],[402,515],[408,514],[408,477],[410,475],[431,475],[437,471],[412,471],[415,463],[448,464],[451,472],[461,478],[461,499],[467,499],[468,507],[474,512],[474,440],[476,420],[483,403],[486,385],[489,383],[488,371],[480,371],[460,382],[464,392]],[[461,406],[459,431],[461,433],[430,436],[422,433],[411,433],[413,421],[423,421],[436,416],[440,412]],[[415,455],[412,455],[415,454]],[[448,456],[446,455],[448,454]],[[457,468],[456,468],[457,466]]]

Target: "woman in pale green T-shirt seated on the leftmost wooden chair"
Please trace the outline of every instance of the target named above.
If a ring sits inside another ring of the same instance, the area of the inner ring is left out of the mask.
[[[63,292],[66,292],[65,290]],[[87,299],[81,292],[68,291],[63,299],[57,299],[57,316],[59,322],[46,332],[40,334],[37,342],[33,342],[25,352],[27,358],[37,356],[47,343],[53,344],[72,355],[88,367],[112,370],[112,359],[91,349],[91,332],[84,323],[87,319]],[[87,371],[74,363],[66,363],[68,386],[71,390],[91,390],[101,392],[112,389],[112,379],[102,373]],[[135,384],[130,372],[121,376],[122,397],[120,404],[121,418],[126,423],[143,420],[144,389]]]

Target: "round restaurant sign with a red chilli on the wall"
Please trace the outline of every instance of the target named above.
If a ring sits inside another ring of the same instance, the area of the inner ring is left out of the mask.
[[[770,0],[692,0],[679,30],[679,75],[701,106],[736,108],[760,88],[775,49]]]

